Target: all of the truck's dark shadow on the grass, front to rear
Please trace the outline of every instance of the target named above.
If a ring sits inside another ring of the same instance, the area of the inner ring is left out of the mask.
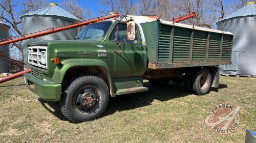
[[[106,107],[106,110],[101,117],[112,115],[117,111],[132,110],[148,106],[151,105],[154,100],[164,102],[191,95],[184,90],[183,84],[174,84],[172,82],[170,82],[166,87],[152,87],[149,82],[144,82],[144,87],[148,87],[149,91],[110,98],[108,107]],[[219,89],[224,88],[227,88],[227,85],[220,84],[219,88],[211,88],[211,91],[218,92]],[[55,117],[62,121],[67,121],[60,111],[58,102],[46,102],[41,98],[39,98],[38,101]]]

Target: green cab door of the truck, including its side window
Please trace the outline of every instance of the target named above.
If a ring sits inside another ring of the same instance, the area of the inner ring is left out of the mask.
[[[123,41],[126,37],[126,23],[116,23],[106,39],[109,67],[113,78],[142,76],[146,69],[144,50],[146,47],[143,47],[137,25],[135,40]]]

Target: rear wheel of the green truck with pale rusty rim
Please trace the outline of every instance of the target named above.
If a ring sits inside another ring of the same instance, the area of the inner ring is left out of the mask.
[[[211,74],[208,69],[198,69],[194,72],[192,81],[192,90],[196,95],[205,95],[209,93],[211,87]]]

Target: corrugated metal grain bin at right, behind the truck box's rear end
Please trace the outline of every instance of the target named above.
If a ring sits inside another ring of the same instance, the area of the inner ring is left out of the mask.
[[[232,65],[220,66],[221,74],[255,76],[256,4],[249,2],[247,6],[220,19],[217,28],[234,34]]]

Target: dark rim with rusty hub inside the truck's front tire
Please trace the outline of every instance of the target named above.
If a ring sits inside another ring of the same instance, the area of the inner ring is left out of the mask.
[[[99,106],[99,90],[97,88],[83,88],[76,94],[75,109],[80,113],[90,113]]]

